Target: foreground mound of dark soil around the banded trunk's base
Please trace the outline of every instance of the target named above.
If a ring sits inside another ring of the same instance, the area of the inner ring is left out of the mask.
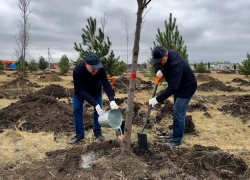
[[[243,159],[217,147],[195,145],[169,148],[149,143],[149,153],[121,154],[119,143],[105,141],[47,152],[47,159],[32,166],[1,170],[3,179],[249,179]],[[94,152],[91,169],[80,168],[81,156]],[[13,168],[13,167],[12,167]]]

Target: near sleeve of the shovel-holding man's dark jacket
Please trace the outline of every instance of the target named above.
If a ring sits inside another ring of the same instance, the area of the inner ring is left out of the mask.
[[[176,90],[178,90],[181,77],[182,77],[183,67],[180,64],[177,64],[169,72],[169,81],[167,89],[156,97],[158,102],[163,102],[169,98]]]

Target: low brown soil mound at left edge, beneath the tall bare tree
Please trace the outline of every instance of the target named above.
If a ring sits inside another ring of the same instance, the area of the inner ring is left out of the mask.
[[[17,79],[14,79],[10,82],[7,82],[3,84],[0,88],[1,89],[14,89],[14,88],[21,88],[22,86],[24,87],[41,87],[37,83],[32,83],[26,78],[18,77]]]

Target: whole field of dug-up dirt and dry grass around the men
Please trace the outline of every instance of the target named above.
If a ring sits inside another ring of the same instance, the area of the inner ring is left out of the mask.
[[[131,154],[124,155],[112,129],[103,128],[104,142],[93,138],[93,107],[88,104],[85,141],[68,144],[74,135],[70,73],[38,72],[20,84],[17,73],[4,71],[0,179],[250,179],[250,87],[239,84],[249,79],[231,73],[197,75],[199,88],[179,147],[163,145],[163,136],[172,131],[173,98],[153,109],[145,130],[150,149],[146,154],[137,150],[136,133],[146,118],[154,80],[139,73]],[[50,78],[42,81],[43,75]],[[115,79],[116,101],[125,118],[129,79]],[[162,82],[157,92],[166,86]],[[109,110],[105,95],[103,107]]]

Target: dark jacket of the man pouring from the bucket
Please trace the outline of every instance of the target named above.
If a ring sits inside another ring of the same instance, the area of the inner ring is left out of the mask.
[[[95,75],[92,75],[87,70],[85,62],[82,62],[75,67],[73,79],[75,95],[86,100],[89,104],[98,105],[92,96],[98,96],[102,91],[102,86],[109,100],[114,100],[114,94],[104,68],[100,68]]]

